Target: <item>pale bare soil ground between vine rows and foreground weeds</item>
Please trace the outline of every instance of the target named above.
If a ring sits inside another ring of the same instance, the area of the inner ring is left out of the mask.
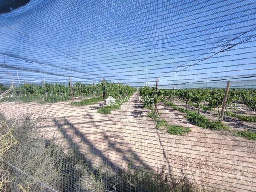
[[[134,166],[157,169],[180,176],[181,170],[204,190],[256,191],[256,142],[189,124],[184,114],[160,103],[161,116],[171,125],[192,129],[186,135],[157,130],[155,122],[141,108],[138,93],[111,114],[99,114],[99,102],[71,106],[70,101],[52,104],[36,102],[0,103],[7,118],[31,116],[42,137],[55,137],[67,148],[82,154],[93,167],[113,170]]]

